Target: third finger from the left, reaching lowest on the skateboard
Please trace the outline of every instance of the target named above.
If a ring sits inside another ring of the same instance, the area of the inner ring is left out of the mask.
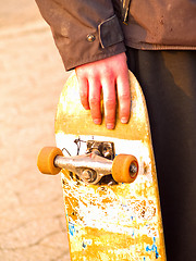
[[[102,82],[105,121],[108,129],[114,128],[115,125],[115,83],[112,76],[105,78]]]

